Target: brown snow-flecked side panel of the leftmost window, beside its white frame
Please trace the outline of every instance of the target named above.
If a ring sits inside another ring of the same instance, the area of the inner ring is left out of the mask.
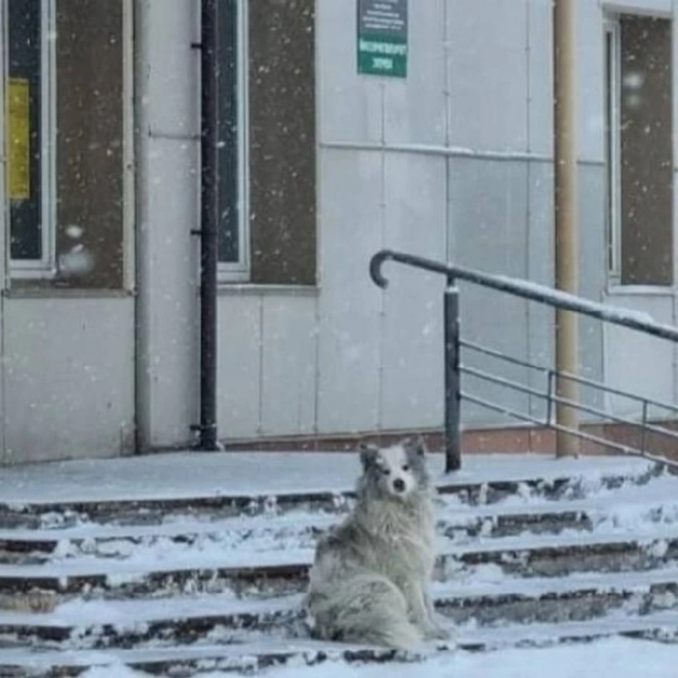
[[[57,1],[58,285],[124,282],[123,8]]]

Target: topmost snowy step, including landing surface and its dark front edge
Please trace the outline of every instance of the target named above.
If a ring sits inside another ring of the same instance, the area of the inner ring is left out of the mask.
[[[199,464],[193,463],[195,459],[167,455],[67,462],[51,465],[51,478],[33,467],[9,468],[0,478],[0,528],[161,525],[186,517],[287,511],[341,513],[358,472],[354,453],[216,454],[201,456]],[[431,465],[439,492],[454,496],[461,505],[493,504],[526,494],[535,499],[574,498],[594,487],[644,484],[662,473],[653,463],[616,457],[470,457],[465,468],[451,476],[441,473],[440,456],[432,456]],[[262,468],[266,478],[253,482]]]

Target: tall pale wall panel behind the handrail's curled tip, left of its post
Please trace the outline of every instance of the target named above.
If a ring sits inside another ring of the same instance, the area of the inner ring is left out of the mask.
[[[438,261],[446,257],[446,172],[439,157],[386,158],[386,246]],[[445,279],[387,263],[381,325],[381,427],[443,422],[442,297]]]

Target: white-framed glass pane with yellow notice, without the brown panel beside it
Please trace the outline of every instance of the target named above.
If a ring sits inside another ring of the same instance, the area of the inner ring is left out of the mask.
[[[54,269],[54,0],[7,4],[6,156],[13,270]]]

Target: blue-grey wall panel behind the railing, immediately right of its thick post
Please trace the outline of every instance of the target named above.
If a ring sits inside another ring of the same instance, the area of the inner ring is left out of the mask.
[[[451,261],[461,266],[524,278],[527,267],[528,182],[525,162],[457,159],[451,162]],[[461,335],[513,357],[528,357],[525,301],[476,285],[460,284]],[[463,362],[506,379],[528,383],[528,372],[465,350]],[[516,391],[463,377],[463,390],[504,408],[525,412],[528,398]],[[463,407],[463,421],[474,426],[515,423],[503,415]]]

